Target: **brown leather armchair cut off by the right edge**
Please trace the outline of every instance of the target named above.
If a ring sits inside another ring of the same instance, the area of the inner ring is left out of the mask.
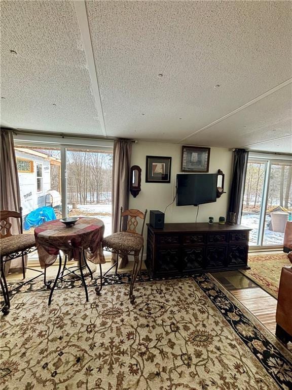
[[[286,222],[284,252],[292,263],[292,221]],[[284,343],[292,341],[292,267],[283,267],[281,272],[276,312],[276,336]]]

